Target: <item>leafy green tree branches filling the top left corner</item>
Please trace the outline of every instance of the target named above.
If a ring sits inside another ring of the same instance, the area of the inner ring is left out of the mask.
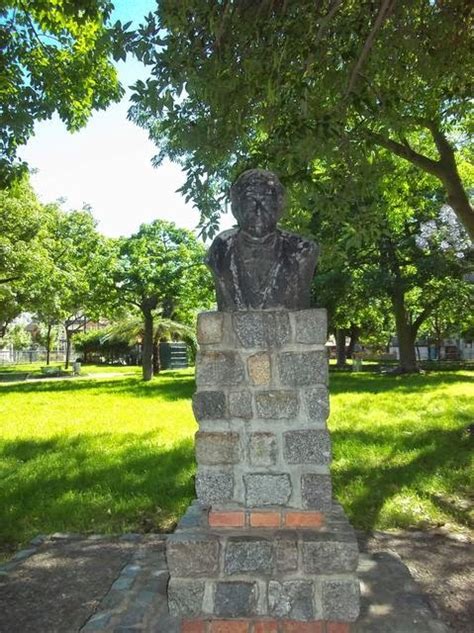
[[[0,1],[0,187],[24,170],[17,149],[35,121],[57,112],[78,130],[122,97],[112,58],[124,58],[130,36],[128,25],[110,24],[112,8],[109,0]]]

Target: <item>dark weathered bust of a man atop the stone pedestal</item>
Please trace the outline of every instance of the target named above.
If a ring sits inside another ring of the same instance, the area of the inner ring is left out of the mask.
[[[309,308],[317,247],[277,228],[284,199],[277,176],[263,169],[244,172],[232,185],[239,228],[220,233],[207,257],[218,310]]]

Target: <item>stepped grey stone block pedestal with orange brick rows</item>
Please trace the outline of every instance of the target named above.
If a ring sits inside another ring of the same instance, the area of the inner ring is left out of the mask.
[[[183,633],[344,633],[358,548],[332,500],[324,310],[203,313],[198,500],[167,541]]]

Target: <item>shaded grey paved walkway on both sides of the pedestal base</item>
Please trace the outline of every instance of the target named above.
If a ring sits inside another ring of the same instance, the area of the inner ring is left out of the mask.
[[[165,539],[35,539],[0,567],[0,632],[178,633],[167,614]],[[362,553],[359,577],[355,633],[449,633],[393,553]]]

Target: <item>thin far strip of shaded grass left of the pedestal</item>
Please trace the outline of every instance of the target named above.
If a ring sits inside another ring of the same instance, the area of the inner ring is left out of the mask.
[[[95,395],[105,393],[126,393],[137,398],[155,398],[164,400],[190,399],[195,391],[194,376],[169,372],[160,374],[150,382],[143,382],[141,378],[77,378],[44,382],[15,383],[4,385],[0,393],[58,393],[90,391]]]

